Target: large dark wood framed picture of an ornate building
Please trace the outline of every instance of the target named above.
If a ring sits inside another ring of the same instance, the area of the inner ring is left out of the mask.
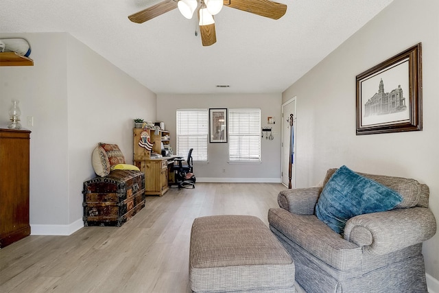
[[[356,88],[357,135],[422,130],[422,44],[360,73]]]

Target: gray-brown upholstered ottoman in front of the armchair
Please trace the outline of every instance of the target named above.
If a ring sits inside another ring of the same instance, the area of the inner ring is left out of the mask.
[[[296,292],[294,262],[251,215],[196,218],[189,248],[193,292]]]

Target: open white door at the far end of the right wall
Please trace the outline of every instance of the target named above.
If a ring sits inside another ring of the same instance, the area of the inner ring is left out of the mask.
[[[293,145],[291,144],[291,127],[289,126],[289,117],[293,115]],[[286,187],[289,186],[289,156],[290,152],[293,152],[292,156],[292,174],[291,185],[292,188],[296,187],[296,97],[289,99],[282,105],[282,184]]]

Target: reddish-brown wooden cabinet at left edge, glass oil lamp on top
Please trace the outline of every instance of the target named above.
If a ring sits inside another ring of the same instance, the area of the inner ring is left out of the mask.
[[[29,130],[0,128],[0,248],[30,235]]]

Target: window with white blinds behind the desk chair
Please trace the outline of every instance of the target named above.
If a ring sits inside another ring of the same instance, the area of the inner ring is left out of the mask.
[[[207,109],[177,110],[177,155],[184,159],[193,148],[193,161],[207,161],[209,122]]]

